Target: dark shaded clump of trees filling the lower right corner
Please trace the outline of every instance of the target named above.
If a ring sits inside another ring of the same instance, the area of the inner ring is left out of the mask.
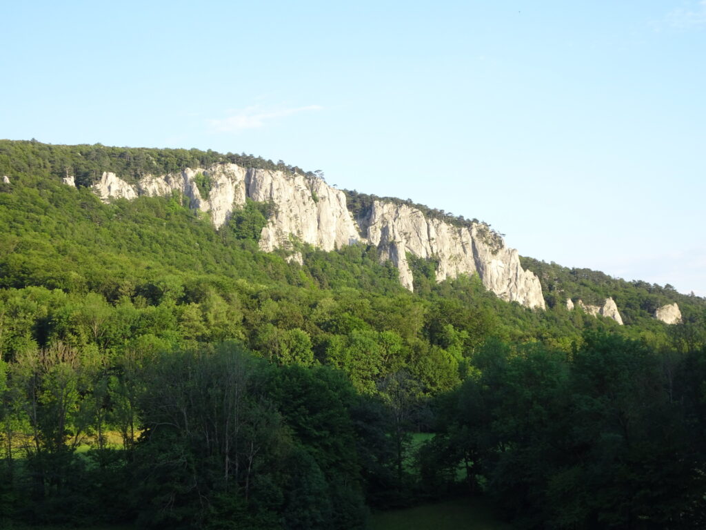
[[[677,396],[692,384],[676,376],[686,365],[602,333],[569,357],[489,342],[473,363],[439,404],[426,481],[453,483],[440,473],[463,466],[522,528],[700,525],[706,455],[688,435],[702,420],[685,421],[693,409]]]

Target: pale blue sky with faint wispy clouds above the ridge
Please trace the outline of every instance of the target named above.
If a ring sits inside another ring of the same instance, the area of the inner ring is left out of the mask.
[[[0,137],[282,159],[706,296],[706,1],[1,12]]]

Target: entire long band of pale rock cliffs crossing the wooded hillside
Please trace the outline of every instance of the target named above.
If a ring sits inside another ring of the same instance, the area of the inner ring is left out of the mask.
[[[206,198],[196,185],[199,173],[210,185]],[[400,269],[400,282],[409,290],[412,271],[407,252],[437,260],[438,281],[477,272],[485,287],[503,300],[544,309],[537,276],[522,269],[517,250],[493,245],[482,225],[457,227],[427,219],[421,211],[404,204],[375,201],[357,226],[347,209],[345,194],[318,177],[217,164],[176,174],[148,175],[137,187],[104,172],[94,188],[104,202],[112,197],[134,199],[138,195],[169,196],[178,192],[189,197],[192,208],[210,212],[216,228],[228,220],[234,208],[243,206],[246,198],[273,201],[277,208],[263,228],[259,243],[267,252],[291,248],[293,237],[324,250],[366,242],[378,247],[382,259],[393,261]],[[294,254],[292,259],[299,261],[301,255]]]

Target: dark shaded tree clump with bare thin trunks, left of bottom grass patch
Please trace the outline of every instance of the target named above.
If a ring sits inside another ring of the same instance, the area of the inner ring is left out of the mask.
[[[214,527],[237,515],[253,528],[362,525],[354,394],[340,375],[275,370],[223,345],[162,355],[143,377],[143,524]]]

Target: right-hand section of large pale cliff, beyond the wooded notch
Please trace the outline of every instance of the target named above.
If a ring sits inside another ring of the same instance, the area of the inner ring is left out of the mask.
[[[527,307],[542,307],[544,297],[539,278],[520,266],[517,250],[491,247],[480,225],[457,227],[437,219],[427,219],[406,204],[375,201],[369,216],[361,220],[368,240],[400,269],[400,281],[412,290],[412,271],[407,252],[424,259],[436,259],[437,281],[459,274],[477,272],[486,289],[503,300]]]

